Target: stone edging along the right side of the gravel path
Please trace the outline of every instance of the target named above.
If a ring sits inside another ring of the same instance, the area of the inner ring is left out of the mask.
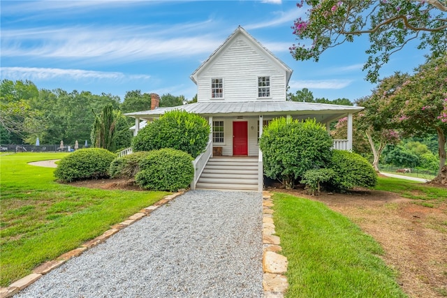
[[[263,288],[264,298],[282,298],[288,288],[284,274],[287,258],[278,252],[281,243],[274,230],[273,202],[270,191],[263,191]]]

